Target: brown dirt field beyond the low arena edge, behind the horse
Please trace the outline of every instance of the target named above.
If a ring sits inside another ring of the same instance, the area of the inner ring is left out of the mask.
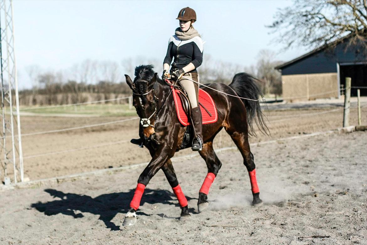
[[[258,133],[258,138],[253,137],[250,142],[263,142],[342,127],[341,102],[322,105],[323,107],[315,107],[314,104],[309,103],[269,105],[269,110],[264,112],[268,116],[271,136]],[[366,103],[364,102],[362,106],[364,106],[362,124],[366,125]],[[115,110],[113,108],[113,111]],[[71,114],[65,117],[65,114],[62,114],[58,117],[50,117],[49,115],[46,113],[42,116],[21,117],[25,177],[30,180],[120,167],[150,160],[146,149],[130,143],[130,139],[138,135],[138,120],[27,136],[30,133],[113,122],[135,116],[95,117],[90,115],[88,117],[88,114]],[[350,111],[350,125],[357,125],[356,108]],[[214,140],[214,148],[226,146],[234,146],[234,144],[222,130]],[[189,153],[191,153],[190,149],[186,149],[178,152],[176,156]],[[8,172],[12,175],[12,166],[8,167]]]

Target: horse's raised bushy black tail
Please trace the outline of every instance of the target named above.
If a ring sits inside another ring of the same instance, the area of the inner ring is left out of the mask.
[[[256,84],[258,81],[256,78],[252,77],[247,73],[237,73],[232,80],[232,83],[229,84],[234,91],[236,91],[237,95],[243,98],[254,99],[257,100],[262,98],[261,91]],[[256,125],[260,129],[260,131],[266,135],[268,135],[269,129],[264,122],[264,114],[261,111],[260,102],[242,99],[243,103],[246,107],[247,113],[247,123],[249,127],[249,134],[255,135],[254,127],[252,122],[255,120]]]

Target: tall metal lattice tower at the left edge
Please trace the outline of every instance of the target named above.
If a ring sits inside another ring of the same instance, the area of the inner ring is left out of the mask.
[[[20,179],[23,182],[23,153],[19,115],[17,63],[14,52],[14,22],[12,0],[0,0],[0,53],[1,53],[1,142],[0,179],[5,184]],[[14,98],[15,97],[15,98]],[[14,105],[15,104],[15,105]],[[18,134],[14,135],[14,129]],[[12,171],[10,168],[12,167]]]

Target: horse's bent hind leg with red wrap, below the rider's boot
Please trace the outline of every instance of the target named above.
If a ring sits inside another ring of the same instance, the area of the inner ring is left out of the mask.
[[[205,143],[203,145],[203,149],[199,151],[199,153],[200,156],[205,160],[208,168],[208,174],[200,188],[199,200],[197,201],[197,209],[199,212],[201,212],[209,205],[207,201],[209,189],[215,179],[215,176],[217,176],[219,169],[222,167],[222,163],[219,161],[217,155],[214,152],[213,142]]]

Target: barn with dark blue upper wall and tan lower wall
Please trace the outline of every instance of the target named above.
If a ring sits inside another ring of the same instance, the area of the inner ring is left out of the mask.
[[[367,87],[367,55],[361,44],[339,43],[335,49],[325,46],[275,67],[281,70],[283,98],[287,101],[339,98],[345,77],[352,87]],[[367,95],[367,89],[360,90]],[[357,95],[352,88],[351,95]]]

